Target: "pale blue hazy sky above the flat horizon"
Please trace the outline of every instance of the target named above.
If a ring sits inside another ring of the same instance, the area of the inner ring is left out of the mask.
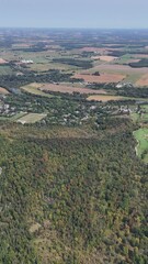
[[[0,26],[148,28],[148,0],[0,0]]]

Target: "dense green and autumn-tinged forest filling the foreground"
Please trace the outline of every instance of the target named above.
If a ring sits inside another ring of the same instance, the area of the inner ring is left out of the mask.
[[[0,263],[146,264],[148,167],[134,129],[1,123]]]

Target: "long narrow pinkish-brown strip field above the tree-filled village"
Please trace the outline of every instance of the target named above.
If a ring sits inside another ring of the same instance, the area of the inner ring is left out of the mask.
[[[53,85],[53,84],[46,84],[39,87],[39,90],[44,91],[59,91],[59,92],[68,92],[68,94],[73,94],[73,92],[79,92],[79,94],[102,94],[105,95],[106,91],[102,90],[94,90],[94,89],[88,89],[88,88],[78,88],[78,87],[72,87],[72,86],[64,86],[64,85]]]

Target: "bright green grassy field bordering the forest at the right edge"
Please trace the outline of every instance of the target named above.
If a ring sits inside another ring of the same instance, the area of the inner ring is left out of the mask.
[[[138,142],[136,153],[145,163],[148,163],[148,129],[139,129],[134,132],[134,136]]]

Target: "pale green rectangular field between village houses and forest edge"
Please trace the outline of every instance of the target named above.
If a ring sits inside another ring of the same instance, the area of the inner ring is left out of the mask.
[[[35,123],[44,119],[47,114],[46,113],[27,113],[22,118],[18,119],[16,122],[25,124],[25,123]]]

